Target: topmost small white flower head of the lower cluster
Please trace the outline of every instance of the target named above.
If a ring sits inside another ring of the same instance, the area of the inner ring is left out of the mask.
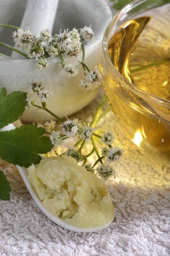
[[[62,131],[63,134],[66,135],[67,137],[72,137],[76,136],[78,133],[78,119],[75,120],[67,120],[62,123]]]

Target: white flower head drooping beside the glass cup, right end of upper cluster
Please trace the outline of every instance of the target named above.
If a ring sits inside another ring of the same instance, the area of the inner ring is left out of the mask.
[[[84,91],[94,90],[99,85],[101,85],[102,75],[97,69],[97,66],[94,67],[94,71],[90,71],[88,75],[85,76],[85,80],[80,81],[80,88]]]

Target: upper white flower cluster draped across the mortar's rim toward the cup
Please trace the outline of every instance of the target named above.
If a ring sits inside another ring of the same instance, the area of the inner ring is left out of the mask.
[[[17,46],[25,50],[28,58],[37,59],[38,70],[43,70],[49,66],[48,57],[55,58],[59,56],[61,67],[64,68],[69,77],[75,76],[79,72],[72,59],[80,57],[82,44],[88,43],[93,37],[94,31],[91,26],[80,28],[80,31],[73,28],[71,31],[66,29],[62,33],[60,30],[60,33],[54,36],[48,28],[42,30],[39,37],[30,32],[30,27],[19,28],[13,33],[13,39],[17,42]],[[82,61],[78,61],[78,64],[82,65],[84,71],[87,69],[88,73],[84,72],[85,80],[81,80],[79,86],[84,91],[94,90],[101,84],[102,75],[97,66],[94,71],[90,71],[84,64],[83,58]]]

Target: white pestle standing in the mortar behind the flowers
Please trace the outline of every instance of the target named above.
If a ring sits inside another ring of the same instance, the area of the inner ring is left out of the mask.
[[[41,30],[45,28],[50,28],[52,31],[58,7],[58,0],[38,1],[36,4],[32,5],[32,1],[28,0],[28,8],[25,10],[20,25],[23,29],[30,27],[31,32],[37,34],[37,36],[39,36]],[[14,59],[25,58],[15,51],[13,51],[11,57]]]

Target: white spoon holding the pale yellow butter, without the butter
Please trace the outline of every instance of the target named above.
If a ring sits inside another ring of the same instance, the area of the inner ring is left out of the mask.
[[[6,127],[0,129],[0,131],[10,131],[15,129],[15,126],[13,124],[9,124]],[[36,202],[36,204],[38,205],[38,207],[42,210],[42,212],[54,223],[56,223],[57,225],[59,225],[60,227],[64,228],[64,229],[68,229],[70,231],[75,231],[75,232],[96,232],[96,231],[100,231],[101,227],[99,225],[97,225],[96,228],[91,227],[88,229],[82,229],[82,228],[78,228],[76,226],[70,225],[66,222],[64,222],[62,219],[60,219],[59,217],[56,217],[54,215],[52,215],[47,209],[44,208],[44,206],[42,205],[41,200],[39,199],[37,192],[35,191],[35,189],[33,188],[32,184],[29,182],[27,176],[28,176],[28,171],[27,168],[24,167],[20,167],[17,165],[17,168],[19,170],[19,173],[23,179],[23,181],[25,182],[25,185],[28,189],[28,191],[30,192],[33,200]],[[114,218],[114,215],[113,215]],[[113,218],[110,222],[108,222],[107,224],[104,224],[104,228],[107,228],[113,221]],[[102,227],[103,229],[103,227]]]

